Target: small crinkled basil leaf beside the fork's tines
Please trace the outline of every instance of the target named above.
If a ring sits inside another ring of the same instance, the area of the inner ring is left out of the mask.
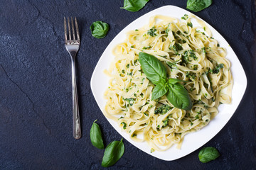
[[[104,38],[107,35],[110,26],[102,21],[96,21],[90,26],[92,36],[95,38]]]

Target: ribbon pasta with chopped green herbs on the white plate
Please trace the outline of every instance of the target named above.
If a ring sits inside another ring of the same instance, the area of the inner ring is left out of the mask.
[[[193,26],[193,19],[200,26]],[[186,81],[181,84],[193,102],[190,111],[175,108],[166,96],[151,101],[154,84],[142,71],[139,52],[160,60],[169,78]],[[129,31],[113,55],[110,69],[105,70],[110,86],[104,94],[104,114],[132,140],[146,141],[152,151],[174,144],[180,148],[184,135],[206,126],[218,114],[220,103],[231,102],[233,78],[226,51],[194,16],[151,17],[148,25]]]

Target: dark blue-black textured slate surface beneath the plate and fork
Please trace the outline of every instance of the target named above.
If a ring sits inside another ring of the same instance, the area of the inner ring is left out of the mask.
[[[186,8],[186,1],[151,0],[135,13],[120,9],[121,0],[0,2],[0,169],[102,169],[103,150],[90,143],[92,122],[98,119],[106,145],[121,136],[92,96],[92,71],[105,47],[129,23],[161,6]],[[247,91],[233,118],[204,145],[218,148],[221,157],[202,164],[198,149],[166,162],[124,140],[124,156],[110,169],[256,169],[255,1],[214,0],[196,15],[228,40],[247,74]],[[77,57],[80,140],[72,135],[71,64],[63,16],[78,17],[82,37]],[[94,21],[110,24],[105,38],[90,34]]]

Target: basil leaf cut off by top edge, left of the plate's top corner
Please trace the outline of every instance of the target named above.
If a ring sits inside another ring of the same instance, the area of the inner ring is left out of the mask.
[[[141,10],[149,0],[124,0],[124,8],[127,11],[136,12]]]

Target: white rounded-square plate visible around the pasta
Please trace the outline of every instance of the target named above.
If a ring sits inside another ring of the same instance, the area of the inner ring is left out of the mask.
[[[184,14],[191,14],[189,11],[184,10],[183,8],[178,8],[176,6],[163,6],[161,8],[157,8],[154,11],[146,13],[144,16],[137,18],[137,20],[130,23],[126,28],[124,28],[113,40],[110,42],[110,45],[107,46],[106,50],[103,52],[100,57],[99,62],[97,63],[95,70],[92,74],[91,79],[91,89],[92,94],[95,96],[95,100],[97,101],[100,110],[103,111],[105,108],[105,99],[103,98],[103,94],[107,87],[109,86],[109,77],[103,73],[105,69],[109,69],[110,63],[114,60],[114,55],[112,55],[112,49],[115,45],[123,42],[126,39],[126,33],[129,30],[135,30],[137,28],[142,28],[142,26],[149,23],[149,18],[155,15],[164,15],[171,16],[176,18],[181,18]],[[201,19],[201,18],[199,18]],[[166,150],[165,152],[153,152],[150,153],[150,147],[146,144],[146,142],[134,142],[129,138],[129,135],[122,131],[119,128],[114,120],[107,120],[114,127],[120,135],[124,137],[124,139],[128,140],[135,147],[142,149],[142,151],[151,154],[154,157],[159,159],[163,159],[166,161],[175,160],[181,157],[190,154],[195,151],[199,147],[203,146],[212,139],[224,126],[228,123],[231,116],[235,113],[236,108],[240,101],[242,100],[242,96],[245,94],[245,89],[247,86],[247,79],[245,75],[244,69],[242,69],[242,65],[240,64],[238,57],[235,55],[235,52],[232,50],[228,42],[217,32],[212,26],[206,23],[208,28],[212,31],[213,38],[218,40],[221,47],[224,47],[227,50],[227,59],[231,62],[231,72],[233,74],[234,85],[232,92],[232,104],[220,105],[218,108],[218,115],[210,120],[210,123],[206,125],[206,127],[198,130],[198,132],[192,132],[184,137],[183,144],[181,149],[176,149],[176,145]]]

